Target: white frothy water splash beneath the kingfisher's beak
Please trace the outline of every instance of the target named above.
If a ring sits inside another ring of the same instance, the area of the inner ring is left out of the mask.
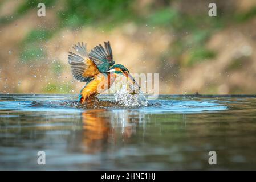
[[[124,106],[148,106],[148,101],[143,92],[138,89],[136,94],[131,94],[133,88],[127,89],[126,85],[122,85],[121,89],[117,90],[115,94],[115,101]]]

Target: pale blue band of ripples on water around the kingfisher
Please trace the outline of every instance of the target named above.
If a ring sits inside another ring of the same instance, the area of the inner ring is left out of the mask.
[[[81,112],[86,109],[105,108],[109,110],[139,110],[145,113],[200,113],[209,111],[220,111],[228,109],[224,103],[214,99],[197,99],[191,100],[188,98],[159,97],[156,99],[147,100],[147,106],[126,106],[123,103],[117,102],[113,96],[99,96],[98,102],[81,105],[77,101],[72,100],[74,96],[62,97],[62,99],[50,101],[43,96],[29,96],[27,100],[22,96],[15,96],[15,101],[11,97],[7,101],[0,102],[0,110],[16,110],[16,111],[47,111],[47,112]],[[37,100],[37,101],[35,101]]]

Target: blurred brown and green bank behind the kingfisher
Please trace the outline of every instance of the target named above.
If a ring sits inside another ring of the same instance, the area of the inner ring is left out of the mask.
[[[160,94],[255,94],[255,30],[249,0],[1,1],[0,93],[78,93],[68,51],[109,40],[116,63],[159,73]]]

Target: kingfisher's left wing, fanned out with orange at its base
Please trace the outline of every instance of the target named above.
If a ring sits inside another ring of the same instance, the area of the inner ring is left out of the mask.
[[[73,77],[83,82],[91,81],[99,73],[99,69],[88,57],[86,44],[78,43],[73,49],[75,53],[68,52],[68,63],[71,65]]]

